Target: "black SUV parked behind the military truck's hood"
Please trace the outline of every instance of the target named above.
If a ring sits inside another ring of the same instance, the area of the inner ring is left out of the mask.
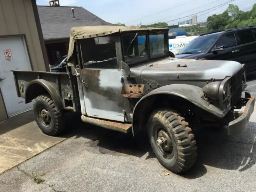
[[[232,60],[256,70],[256,25],[203,34],[185,46],[176,58]]]

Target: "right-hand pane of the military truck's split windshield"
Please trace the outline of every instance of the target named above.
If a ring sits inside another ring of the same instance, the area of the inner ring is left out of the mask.
[[[164,55],[164,34],[149,35],[151,57]]]

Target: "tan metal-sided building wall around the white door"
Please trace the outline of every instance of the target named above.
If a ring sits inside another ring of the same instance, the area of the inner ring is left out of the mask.
[[[49,71],[36,0],[0,0],[0,38],[21,34],[25,35],[32,70]],[[5,117],[0,92],[0,118]]]

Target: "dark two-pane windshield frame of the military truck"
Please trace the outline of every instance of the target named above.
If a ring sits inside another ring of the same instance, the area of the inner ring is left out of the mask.
[[[167,31],[167,32],[166,32]],[[125,61],[125,51],[124,50],[124,42],[123,42],[123,36],[127,36],[127,35],[135,35],[137,34],[137,37],[136,39],[138,39],[138,36],[142,36],[142,35],[145,35],[146,36],[146,43],[149,44],[149,41],[150,41],[150,35],[157,35],[157,34],[163,34],[164,35],[164,54],[157,54],[157,55],[154,55],[154,56],[151,56],[151,53],[150,53],[150,46],[147,46],[147,52],[148,52],[148,56],[145,57],[145,58],[137,58],[137,59],[134,59],[134,60],[131,60],[130,62],[126,62]],[[147,61],[150,61],[150,60],[155,60],[157,58],[164,58],[166,56],[169,55],[169,42],[168,42],[168,30],[158,30],[158,31],[132,31],[132,32],[122,32],[121,33],[121,49],[122,49],[122,60],[124,62],[126,62],[128,64],[128,66],[131,66],[131,65],[134,65],[134,64],[139,64],[139,63],[142,63],[142,62],[147,62]]]

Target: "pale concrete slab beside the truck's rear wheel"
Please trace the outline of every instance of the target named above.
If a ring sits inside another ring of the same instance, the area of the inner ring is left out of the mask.
[[[43,134],[32,111],[0,122],[0,174],[65,140],[70,134],[62,137]]]

